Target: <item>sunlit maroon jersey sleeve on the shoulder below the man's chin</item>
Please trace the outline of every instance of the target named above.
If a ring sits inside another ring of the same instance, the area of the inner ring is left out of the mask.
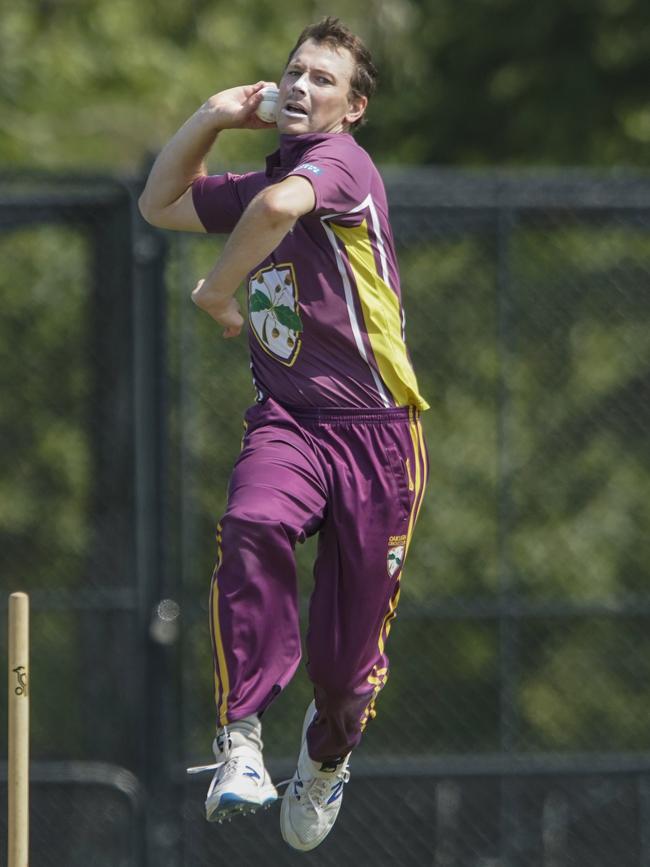
[[[314,189],[317,217],[346,214],[370,192],[372,162],[360,147],[338,143],[334,136],[310,148],[291,175],[306,178]]]

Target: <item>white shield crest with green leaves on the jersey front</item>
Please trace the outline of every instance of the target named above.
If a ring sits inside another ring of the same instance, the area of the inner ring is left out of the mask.
[[[303,330],[293,265],[262,268],[248,282],[248,318],[262,349],[290,367]]]

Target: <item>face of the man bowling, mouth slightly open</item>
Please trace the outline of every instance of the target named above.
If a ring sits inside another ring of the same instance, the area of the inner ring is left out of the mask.
[[[313,39],[298,48],[280,81],[278,129],[306,132],[343,132],[363,114],[365,97],[353,98],[350,79],[354,59],[347,48],[334,50]]]

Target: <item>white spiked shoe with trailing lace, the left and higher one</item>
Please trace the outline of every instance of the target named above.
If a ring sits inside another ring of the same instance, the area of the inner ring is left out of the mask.
[[[215,772],[205,799],[208,822],[255,813],[277,800],[278,793],[264,767],[261,731],[257,716],[220,729],[212,744],[216,763],[187,769],[188,774]]]

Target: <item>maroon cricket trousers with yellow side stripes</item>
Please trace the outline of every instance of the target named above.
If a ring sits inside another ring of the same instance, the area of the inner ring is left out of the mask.
[[[385,644],[427,479],[419,412],[246,413],[217,531],[210,616],[218,724],[264,711],[301,656],[296,542],[318,533],[306,636],[312,759],[348,753],[386,683]]]

